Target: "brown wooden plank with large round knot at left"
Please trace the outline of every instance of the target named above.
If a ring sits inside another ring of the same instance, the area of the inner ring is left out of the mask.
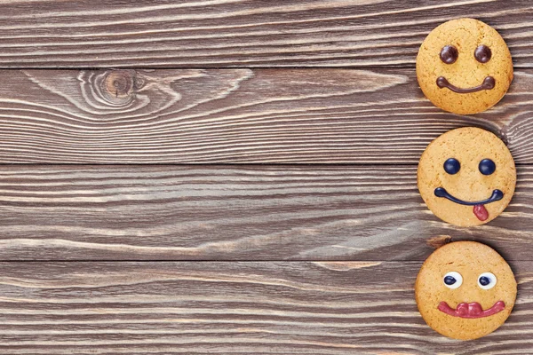
[[[423,97],[414,69],[0,71],[0,163],[416,164],[468,125],[532,163],[532,77],[459,116]]]

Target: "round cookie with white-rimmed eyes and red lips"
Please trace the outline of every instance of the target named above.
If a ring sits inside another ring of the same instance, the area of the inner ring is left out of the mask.
[[[505,323],[516,299],[516,280],[494,249],[456,241],[426,259],[415,298],[429,327],[450,338],[476,339]]]

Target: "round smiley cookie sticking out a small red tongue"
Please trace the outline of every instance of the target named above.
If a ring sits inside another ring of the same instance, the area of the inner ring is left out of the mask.
[[[511,201],[516,170],[496,135],[475,127],[449,130],[418,162],[418,190],[436,217],[452,225],[488,223]]]

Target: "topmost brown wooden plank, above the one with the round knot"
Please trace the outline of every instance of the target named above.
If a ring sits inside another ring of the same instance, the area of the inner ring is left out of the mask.
[[[0,67],[413,67],[446,20],[473,17],[533,67],[529,1],[3,1]]]

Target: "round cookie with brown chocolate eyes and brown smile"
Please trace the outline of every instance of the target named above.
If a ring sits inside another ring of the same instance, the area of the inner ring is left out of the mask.
[[[513,59],[494,28],[479,20],[450,20],[420,46],[417,78],[434,106],[477,114],[504,97],[513,81]]]

